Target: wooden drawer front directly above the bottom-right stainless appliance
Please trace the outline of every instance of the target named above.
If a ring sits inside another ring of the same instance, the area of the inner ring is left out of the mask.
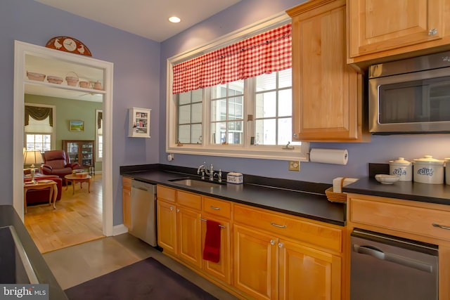
[[[450,211],[428,209],[402,204],[350,199],[350,220],[406,233],[450,240]]]

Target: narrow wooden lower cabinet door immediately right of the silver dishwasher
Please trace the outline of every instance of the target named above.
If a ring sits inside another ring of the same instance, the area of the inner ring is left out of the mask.
[[[176,254],[176,207],[173,203],[158,200],[158,245],[165,252]]]

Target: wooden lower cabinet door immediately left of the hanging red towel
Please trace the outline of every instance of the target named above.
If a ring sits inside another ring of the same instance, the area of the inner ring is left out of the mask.
[[[176,208],[177,254],[179,259],[202,268],[202,224],[200,211]]]

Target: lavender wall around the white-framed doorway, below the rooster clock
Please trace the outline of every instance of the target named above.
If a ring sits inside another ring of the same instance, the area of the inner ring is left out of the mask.
[[[44,46],[51,37],[83,41],[92,56],[114,63],[113,202],[114,224],[122,223],[119,167],[158,162],[160,110],[160,43],[80,18],[33,0],[2,0],[0,8],[0,204],[13,203],[13,74],[14,40]],[[127,138],[127,108],[153,110],[152,137]]]

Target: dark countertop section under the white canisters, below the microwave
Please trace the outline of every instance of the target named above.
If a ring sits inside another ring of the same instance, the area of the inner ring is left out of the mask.
[[[375,178],[367,177],[345,185],[342,191],[450,205],[450,185],[445,184],[428,184],[413,181],[397,181],[393,184],[382,184],[376,181]]]

